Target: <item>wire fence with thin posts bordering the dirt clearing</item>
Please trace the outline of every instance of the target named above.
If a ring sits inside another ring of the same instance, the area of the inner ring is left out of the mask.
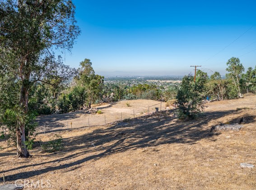
[[[87,114],[84,110],[79,110],[69,114],[39,117],[37,120],[38,132],[51,133],[74,128],[102,126],[127,121],[127,119],[130,120],[141,116],[152,115],[153,113],[161,110],[168,110],[168,107],[165,106],[165,102],[160,102],[146,107],[137,107],[136,109],[131,109],[130,105],[118,110],[117,108],[112,108],[108,111],[104,108],[105,107],[98,108],[99,110],[102,110],[102,114]]]

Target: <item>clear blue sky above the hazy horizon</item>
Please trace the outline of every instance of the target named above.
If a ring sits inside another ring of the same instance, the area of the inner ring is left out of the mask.
[[[72,67],[89,58],[100,75],[186,75],[191,65],[223,75],[231,57],[256,65],[256,0],[73,2],[81,35],[63,55]]]

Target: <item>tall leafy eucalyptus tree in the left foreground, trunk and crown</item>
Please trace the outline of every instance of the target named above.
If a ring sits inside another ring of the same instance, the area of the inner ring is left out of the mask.
[[[71,0],[0,0],[0,49],[3,64],[20,84],[19,106],[28,113],[31,85],[54,72],[54,49],[70,51],[79,35]],[[49,77],[51,78],[51,77]],[[25,122],[16,128],[17,155],[28,157]]]

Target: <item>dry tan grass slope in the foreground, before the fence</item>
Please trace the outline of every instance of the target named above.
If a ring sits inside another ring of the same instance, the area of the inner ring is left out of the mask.
[[[167,110],[69,131],[52,126],[37,140],[61,134],[64,150],[45,153],[37,143],[30,159],[17,159],[15,148],[1,141],[1,175],[26,190],[255,190],[256,168],[240,163],[256,165],[256,96],[206,106],[196,120],[181,121]],[[211,131],[242,117],[240,131]]]

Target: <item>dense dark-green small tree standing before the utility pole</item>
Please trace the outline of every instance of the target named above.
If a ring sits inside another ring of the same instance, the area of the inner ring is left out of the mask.
[[[182,84],[177,93],[179,118],[194,119],[202,112],[204,108],[203,96],[201,94],[204,89],[203,84],[194,82],[192,75],[183,77]]]

